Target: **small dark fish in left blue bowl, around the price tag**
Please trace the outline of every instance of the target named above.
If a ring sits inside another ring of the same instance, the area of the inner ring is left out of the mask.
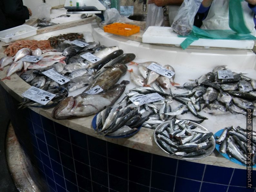
[[[56,85],[50,86],[50,84],[47,83],[47,84],[43,85],[42,87],[40,87],[40,89],[42,89],[44,91],[48,91],[50,93],[53,93],[56,96],[51,101],[49,101],[46,105],[42,105],[40,103],[37,103],[35,101],[32,101],[32,100],[24,97],[23,102],[20,103],[19,109],[28,107],[28,106],[51,107],[51,106],[57,105],[62,99],[66,98],[68,96],[68,91],[66,89],[57,87]]]

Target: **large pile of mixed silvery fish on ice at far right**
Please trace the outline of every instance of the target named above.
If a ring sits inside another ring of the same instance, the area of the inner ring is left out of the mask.
[[[256,80],[236,72],[233,72],[233,79],[218,79],[219,70],[226,70],[226,65],[217,66],[212,72],[186,82],[183,86],[176,86],[187,91],[173,94],[173,99],[187,103],[197,112],[204,109],[212,115],[222,115],[228,111],[246,115],[246,109],[250,108],[255,117]],[[204,104],[202,108],[201,104]]]

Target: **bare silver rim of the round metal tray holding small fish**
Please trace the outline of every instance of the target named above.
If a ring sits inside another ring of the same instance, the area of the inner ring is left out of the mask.
[[[159,145],[159,143],[157,142],[155,132],[156,132],[157,130],[159,130],[160,127],[162,127],[162,125],[164,125],[165,123],[169,123],[170,121],[171,121],[171,120],[165,121],[164,123],[161,123],[160,125],[158,125],[158,126],[156,127],[156,129],[155,129],[155,131],[154,131],[154,140],[155,140],[155,143],[158,145],[158,147],[160,147],[160,149],[162,149],[162,150],[163,150],[164,152],[166,152],[166,153],[168,153],[168,152],[167,152],[166,150],[164,150],[164,149],[161,147],[161,145]],[[190,123],[191,123],[192,125],[197,126],[198,128],[200,128],[200,129],[202,129],[202,130],[209,131],[209,130],[207,130],[205,127],[203,127],[202,125],[199,125],[199,124],[194,123],[194,122],[192,122],[192,121],[190,121]],[[209,140],[212,141],[212,144],[213,144],[213,145],[212,145],[212,147],[210,147],[209,149],[207,149],[207,150],[206,150],[206,153],[203,154],[203,155],[199,155],[199,156],[195,156],[195,157],[184,157],[184,158],[182,158],[182,157],[180,157],[180,156],[178,156],[178,155],[172,155],[172,154],[170,154],[170,153],[168,153],[168,154],[171,155],[171,156],[173,156],[173,157],[175,157],[175,158],[180,158],[180,159],[190,159],[190,160],[192,160],[192,159],[202,159],[202,158],[205,158],[205,157],[207,157],[208,155],[211,155],[212,152],[213,152],[213,150],[215,149],[215,140],[214,140],[214,137],[213,137],[213,136],[210,137]]]

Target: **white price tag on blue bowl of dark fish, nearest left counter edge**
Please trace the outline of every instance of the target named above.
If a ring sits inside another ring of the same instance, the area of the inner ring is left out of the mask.
[[[42,105],[46,105],[51,101],[56,95],[48,91],[36,88],[34,86],[30,87],[27,91],[21,94],[32,101],[38,102]]]

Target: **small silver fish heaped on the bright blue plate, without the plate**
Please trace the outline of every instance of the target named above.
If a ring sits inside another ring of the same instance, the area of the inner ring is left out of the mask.
[[[226,153],[230,158],[235,158],[242,164],[246,164],[246,153],[247,153],[247,137],[246,133],[248,130],[243,129],[239,126],[225,127],[222,134],[216,139],[216,143],[220,145],[219,151]],[[251,132],[251,148],[252,154],[252,165],[256,163],[256,132]]]

